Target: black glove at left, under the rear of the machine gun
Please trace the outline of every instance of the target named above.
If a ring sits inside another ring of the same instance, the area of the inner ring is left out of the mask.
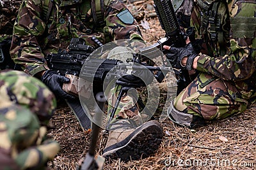
[[[68,94],[62,89],[63,83],[68,83],[70,80],[65,76],[57,74],[55,71],[47,70],[43,74],[41,80],[49,87],[55,96],[63,97],[64,99],[75,99],[76,97]]]

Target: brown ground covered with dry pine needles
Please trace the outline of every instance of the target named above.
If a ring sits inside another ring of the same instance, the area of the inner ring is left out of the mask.
[[[152,1],[126,3],[140,24],[143,37],[155,43],[164,36]],[[90,132],[83,131],[67,104],[59,101],[48,136],[60,143],[60,153],[48,166],[76,169],[88,152]],[[164,137],[159,150],[136,161],[106,160],[104,169],[256,169],[256,105],[240,115],[211,122],[204,127],[179,127],[168,118],[161,122]],[[100,132],[97,155],[102,154],[107,135]]]

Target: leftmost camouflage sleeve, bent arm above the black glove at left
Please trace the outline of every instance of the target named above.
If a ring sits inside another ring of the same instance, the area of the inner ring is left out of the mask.
[[[13,41],[10,54],[14,62],[31,75],[47,69],[38,39],[45,31],[45,22],[40,18],[42,1],[25,0],[20,6],[13,26]]]

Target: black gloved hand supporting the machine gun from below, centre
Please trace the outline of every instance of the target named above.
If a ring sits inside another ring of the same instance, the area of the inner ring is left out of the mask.
[[[145,82],[143,80],[145,80]],[[147,86],[154,80],[154,75],[149,70],[137,70],[134,74],[127,74],[116,81],[117,85],[123,87],[137,88]]]

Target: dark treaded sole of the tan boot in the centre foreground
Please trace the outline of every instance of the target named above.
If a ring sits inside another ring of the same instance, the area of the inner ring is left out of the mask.
[[[152,120],[141,125],[123,141],[106,148],[102,156],[125,161],[143,159],[159,148],[162,139],[163,127]]]

